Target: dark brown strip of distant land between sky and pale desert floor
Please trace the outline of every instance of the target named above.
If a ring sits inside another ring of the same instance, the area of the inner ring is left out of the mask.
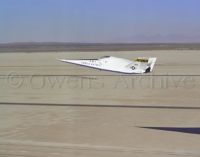
[[[2,43],[1,52],[72,52],[72,51],[138,51],[138,50],[200,50],[200,43]]]

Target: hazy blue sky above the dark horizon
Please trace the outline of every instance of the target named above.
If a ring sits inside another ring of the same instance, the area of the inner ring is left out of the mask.
[[[0,42],[200,42],[200,0],[1,0]]]

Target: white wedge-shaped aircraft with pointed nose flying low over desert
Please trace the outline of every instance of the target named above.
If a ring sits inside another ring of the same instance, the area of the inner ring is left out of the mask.
[[[123,58],[104,56],[100,59],[59,59],[59,61],[124,74],[143,74],[152,72],[156,59],[157,58],[137,58],[131,61]]]

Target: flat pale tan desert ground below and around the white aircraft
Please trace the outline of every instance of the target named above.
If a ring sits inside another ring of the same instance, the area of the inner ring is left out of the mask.
[[[57,59],[157,57],[124,75]],[[200,50],[0,53],[0,156],[200,156]]]

